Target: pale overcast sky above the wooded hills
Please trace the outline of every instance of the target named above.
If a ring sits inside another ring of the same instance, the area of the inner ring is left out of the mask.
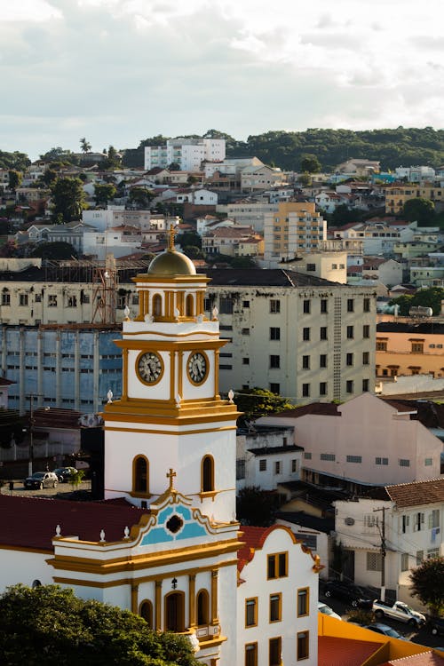
[[[444,127],[442,0],[0,0],[0,150]]]

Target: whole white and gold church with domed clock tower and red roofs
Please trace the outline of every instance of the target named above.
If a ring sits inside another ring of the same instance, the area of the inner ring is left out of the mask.
[[[104,408],[105,501],[0,496],[0,585],[59,583],[190,636],[208,666],[317,663],[319,558],[235,515],[239,413],[218,394],[208,278],[170,246],[134,278],[123,391]]]

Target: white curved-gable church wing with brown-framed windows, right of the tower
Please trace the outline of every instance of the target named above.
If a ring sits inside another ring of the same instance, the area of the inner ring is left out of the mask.
[[[246,527],[244,533],[243,541],[254,547],[250,560],[241,560],[236,663],[314,666],[318,662],[316,561],[286,527],[262,529],[258,539],[251,530],[259,529]]]

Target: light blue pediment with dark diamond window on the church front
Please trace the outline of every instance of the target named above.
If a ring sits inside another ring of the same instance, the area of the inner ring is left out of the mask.
[[[140,535],[140,546],[175,543],[186,539],[202,540],[216,534],[208,516],[190,505],[190,500],[179,493],[163,498],[162,504],[151,505],[152,514]]]

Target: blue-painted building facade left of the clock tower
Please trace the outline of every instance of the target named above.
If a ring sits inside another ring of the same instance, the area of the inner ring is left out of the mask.
[[[4,326],[0,329],[0,367],[14,382],[10,408],[24,412],[27,396],[41,396],[37,405],[99,411],[111,390],[122,392],[122,354],[115,339],[120,327]]]

